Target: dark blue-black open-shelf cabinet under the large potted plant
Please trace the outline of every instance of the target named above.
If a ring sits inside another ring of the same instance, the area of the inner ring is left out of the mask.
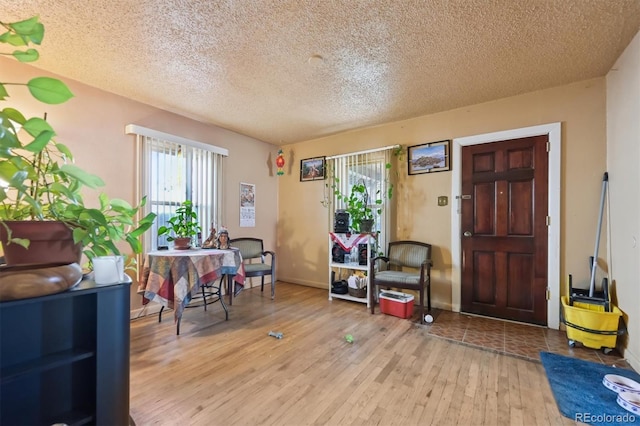
[[[129,288],[0,303],[0,424],[129,424]]]

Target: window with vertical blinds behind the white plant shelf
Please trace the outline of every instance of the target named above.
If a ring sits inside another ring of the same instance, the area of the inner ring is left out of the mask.
[[[373,231],[378,232],[377,251],[386,251],[390,232],[391,200],[389,192],[392,190],[390,165],[392,149],[374,150],[347,155],[329,157],[328,168],[336,177],[336,189],[342,194],[350,194],[354,185],[364,184],[369,193],[369,206],[374,211]],[[381,204],[377,204],[379,200]],[[333,198],[334,208],[330,209],[331,221],[335,210],[343,209],[344,203]],[[333,229],[333,225],[331,225]]]

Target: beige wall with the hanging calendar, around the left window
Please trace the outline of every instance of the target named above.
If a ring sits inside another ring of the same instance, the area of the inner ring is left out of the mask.
[[[0,70],[0,79],[3,82],[26,82],[33,77],[49,75],[6,58],[0,58]],[[57,140],[69,146],[78,166],[97,174],[106,182],[104,192],[110,197],[123,198],[134,203],[135,137],[124,133],[127,124],[138,124],[217,145],[229,150],[229,157],[224,164],[223,224],[229,229],[232,238],[263,238],[266,248],[275,249],[278,187],[275,165],[269,166],[269,159],[274,160],[277,155],[275,146],[75,81],[65,78],[62,80],[75,95],[67,103],[44,105],[33,100],[26,88],[10,86],[8,89],[11,98],[6,106],[17,108],[26,116],[42,116],[47,112],[48,121],[57,132]],[[256,185],[255,228],[239,227],[240,182]],[[97,200],[93,195],[94,193],[91,193],[87,200]],[[134,283],[132,309],[140,306],[140,297],[135,294],[136,287]]]

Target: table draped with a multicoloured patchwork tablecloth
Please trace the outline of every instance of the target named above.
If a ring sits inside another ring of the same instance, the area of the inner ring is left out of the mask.
[[[180,334],[180,320],[192,298],[199,295],[202,286],[222,278],[227,278],[226,290],[231,305],[245,282],[239,249],[156,250],[145,256],[138,293],[143,296],[143,305],[149,302],[162,305],[160,314],[164,308],[173,309],[177,334]],[[221,294],[219,298],[224,307]]]

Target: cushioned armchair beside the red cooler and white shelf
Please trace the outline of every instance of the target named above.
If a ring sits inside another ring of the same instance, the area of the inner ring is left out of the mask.
[[[431,311],[431,244],[393,241],[386,256],[371,261],[369,269],[371,313],[375,313],[378,287],[415,290],[419,294],[420,322],[424,324],[424,293]]]

